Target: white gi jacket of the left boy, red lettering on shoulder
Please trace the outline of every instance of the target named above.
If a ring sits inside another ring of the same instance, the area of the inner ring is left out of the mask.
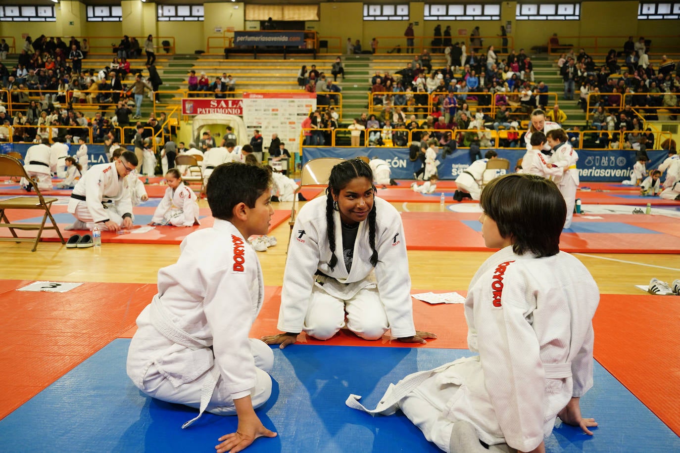
[[[256,383],[248,333],[265,294],[256,252],[222,219],[180,250],[177,263],[158,271],[158,294],[137,317],[127,374],[146,391],[152,364],[176,386],[214,369],[233,399],[248,396]]]

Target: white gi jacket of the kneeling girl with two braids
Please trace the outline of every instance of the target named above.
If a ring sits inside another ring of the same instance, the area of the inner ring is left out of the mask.
[[[415,335],[409,259],[401,217],[394,207],[375,197],[375,249],[378,263],[371,266],[368,221],[359,223],[354,242],[352,268],[347,273],[343,261],[342,228],[340,213],[333,212],[335,223],[335,256],[338,262],[331,270],[328,228],[326,223],[326,197],[315,198],[305,204],[295,219],[290,237],[284,287],[279,310],[278,329],[284,332],[301,332],[314,285],[341,300],[354,297],[358,291],[375,285],[385,306],[392,336],[397,338]],[[315,276],[317,270],[330,278]],[[320,284],[320,281],[324,281]]]

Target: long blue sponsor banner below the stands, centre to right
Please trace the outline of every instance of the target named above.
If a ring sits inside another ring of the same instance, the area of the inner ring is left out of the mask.
[[[488,151],[482,149],[482,155]],[[510,161],[510,171],[515,170],[517,160],[524,157],[526,149],[496,149],[498,157]],[[581,181],[602,181],[602,182],[621,182],[630,178],[630,170],[635,163],[635,151],[630,149],[609,149],[607,151],[589,151],[581,149],[577,168]],[[304,147],[302,161],[303,164],[310,159],[337,157],[352,159],[358,156],[377,157],[385,160],[392,167],[392,177],[394,179],[413,179],[413,173],[417,172],[422,166],[422,162],[409,160],[408,148],[347,148],[347,147]],[[647,151],[647,156],[651,162],[647,168],[657,168],[664,159],[668,157],[666,151]],[[469,149],[457,149],[442,159],[438,156],[439,167],[437,171],[440,179],[456,179],[470,165]]]

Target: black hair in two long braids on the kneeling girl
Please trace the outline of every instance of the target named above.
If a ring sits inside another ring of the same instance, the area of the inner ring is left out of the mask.
[[[332,270],[337,265],[338,259],[335,256],[335,222],[333,221],[333,211],[335,211],[333,195],[339,196],[340,191],[347,187],[347,184],[354,178],[366,178],[371,181],[373,187],[373,195],[377,190],[373,185],[373,171],[369,164],[363,160],[356,158],[352,160],[345,160],[333,167],[330,170],[330,177],[328,178],[328,187],[326,187],[326,223],[328,223],[328,247],[330,248],[330,260],[328,267]],[[378,252],[375,249],[375,203],[373,209],[369,213],[369,244],[371,245],[371,266],[378,262]]]

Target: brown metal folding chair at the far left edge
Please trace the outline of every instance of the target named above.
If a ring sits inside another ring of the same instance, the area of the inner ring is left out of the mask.
[[[29,175],[27,175],[26,170],[24,170],[24,166],[22,166],[21,162],[11,156],[0,155],[0,177],[2,176],[22,177],[27,179],[31,186],[33,186],[33,190],[35,190],[35,196],[18,196],[8,200],[0,200],[0,228],[9,228],[10,232],[12,233],[12,237],[0,237],[0,240],[17,243],[32,241],[33,249],[31,251],[34,252],[38,247],[38,242],[40,241],[42,232],[44,230],[56,230],[56,234],[59,235],[61,243],[65,244],[66,241],[61,235],[61,231],[56,225],[56,221],[54,221],[52,213],[50,213],[52,203],[54,203],[57,199],[44,198],[38,189],[37,183],[33,181]],[[7,213],[5,212],[6,209],[36,209],[38,211],[43,211],[43,218],[41,223],[12,223],[9,219],[7,219]],[[45,225],[48,217],[52,222],[52,226]],[[37,230],[37,235],[35,238],[21,238],[17,236],[15,230]]]

